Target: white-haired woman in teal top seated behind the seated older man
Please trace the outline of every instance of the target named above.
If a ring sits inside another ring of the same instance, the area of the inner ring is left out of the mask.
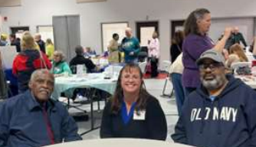
[[[65,56],[62,51],[54,51],[51,73],[54,73],[55,77],[62,76],[64,73],[71,74],[71,68],[65,61]]]

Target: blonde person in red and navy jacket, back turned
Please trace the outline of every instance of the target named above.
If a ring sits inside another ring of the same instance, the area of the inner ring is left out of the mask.
[[[34,70],[51,69],[50,60],[43,52],[38,51],[36,46],[33,36],[25,31],[21,38],[21,52],[15,57],[12,64],[12,73],[18,78],[19,93],[28,90],[28,81]]]

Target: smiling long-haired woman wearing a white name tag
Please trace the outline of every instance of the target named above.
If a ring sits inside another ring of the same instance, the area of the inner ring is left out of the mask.
[[[166,140],[166,116],[143,84],[139,66],[126,64],[120,71],[113,99],[103,110],[100,138]]]

